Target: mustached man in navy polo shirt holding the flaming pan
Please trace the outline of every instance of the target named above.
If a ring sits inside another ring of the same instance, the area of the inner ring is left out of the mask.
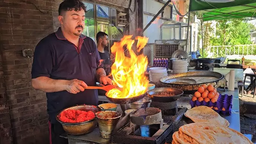
[[[103,68],[94,41],[82,35],[85,6],[80,0],[64,0],[59,6],[60,28],[36,46],[32,64],[32,86],[46,92],[50,144],[67,144],[62,125],[55,116],[77,104],[97,106],[97,90],[88,90],[96,81],[112,84]]]

